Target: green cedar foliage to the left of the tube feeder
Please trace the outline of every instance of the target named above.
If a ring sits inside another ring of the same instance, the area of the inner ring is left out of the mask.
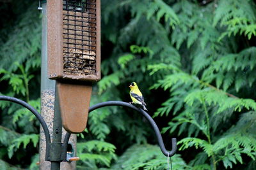
[[[0,29],[0,94],[22,99],[40,111],[41,24],[36,5],[13,1],[3,7],[3,13],[10,8],[12,20],[2,18],[9,25]],[[0,113],[1,169],[26,168],[29,157],[36,154],[39,122],[30,111],[10,102],[0,102]]]

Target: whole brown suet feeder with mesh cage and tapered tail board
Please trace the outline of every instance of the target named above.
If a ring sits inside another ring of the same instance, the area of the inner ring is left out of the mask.
[[[86,127],[92,81],[100,80],[100,0],[47,1],[48,76],[57,80],[63,127]]]

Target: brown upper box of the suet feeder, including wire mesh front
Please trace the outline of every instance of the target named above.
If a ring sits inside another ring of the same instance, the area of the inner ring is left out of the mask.
[[[48,44],[52,46],[48,50],[49,78],[98,81],[99,1],[63,0],[51,4],[48,18],[48,27],[52,27],[48,29]]]

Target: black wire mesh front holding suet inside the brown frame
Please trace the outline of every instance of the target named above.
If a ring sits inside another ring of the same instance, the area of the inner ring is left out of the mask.
[[[63,1],[65,74],[96,74],[96,4]]]

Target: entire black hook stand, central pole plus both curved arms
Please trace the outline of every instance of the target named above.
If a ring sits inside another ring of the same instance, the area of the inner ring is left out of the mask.
[[[70,133],[67,132],[65,134],[65,139],[63,141],[63,144],[61,144],[61,141],[60,141],[61,138],[58,136],[59,131],[61,132],[61,126],[59,125],[60,123],[57,126],[55,125],[54,130],[55,130],[56,134],[54,134],[54,136],[56,138],[54,138],[53,141],[54,142],[56,141],[57,143],[51,143],[50,133],[49,133],[49,129],[47,127],[47,124],[45,123],[44,118],[42,118],[42,116],[38,113],[38,111],[35,110],[35,108],[30,106],[28,103],[26,103],[26,102],[24,102],[20,99],[17,99],[15,97],[0,96],[0,101],[11,101],[13,103],[20,104],[21,106],[24,106],[24,108],[27,108],[29,111],[31,111],[33,113],[33,115],[35,115],[35,117],[39,120],[40,124],[42,125],[42,128],[44,130],[44,134],[45,134],[45,140],[46,140],[45,160],[48,160],[48,161],[52,162],[51,169],[60,169],[60,162],[67,161],[66,160],[67,146],[68,146],[68,140],[70,138]],[[93,110],[97,110],[99,108],[106,107],[106,106],[124,106],[124,107],[131,108],[132,110],[135,110],[135,111],[138,111],[139,113],[141,113],[141,115],[143,115],[145,118],[147,118],[151,127],[154,129],[159,147],[161,148],[161,151],[163,152],[163,154],[166,157],[172,157],[176,153],[176,151],[177,151],[177,139],[172,138],[172,150],[170,150],[170,151],[166,150],[166,148],[164,146],[164,143],[163,143],[163,138],[161,136],[159,128],[156,125],[156,122],[154,122],[153,118],[150,117],[150,115],[148,115],[148,113],[146,111],[144,111],[140,108],[136,108],[136,106],[133,106],[130,103],[125,103],[125,102],[122,102],[122,101],[107,101],[107,102],[103,102],[103,103],[99,103],[99,104],[95,104],[94,106],[91,106],[90,109],[89,109],[89,112],[91,112]],[[56,113],[60,114],[60,111],[57,109]],[[57,122],[61,121],[59,119],[60,119],[60,117],[54,118],[54,120],[57,121]],[[51,147],[51,145],[52,145],[52,147]],[[56,151],[56,148],[58,148],[58,152]],[[56,159],[54,159],[55,157],[50,157],[50,154],[51,154],[50,152],[52,152],[52,154],[56,157]]]

